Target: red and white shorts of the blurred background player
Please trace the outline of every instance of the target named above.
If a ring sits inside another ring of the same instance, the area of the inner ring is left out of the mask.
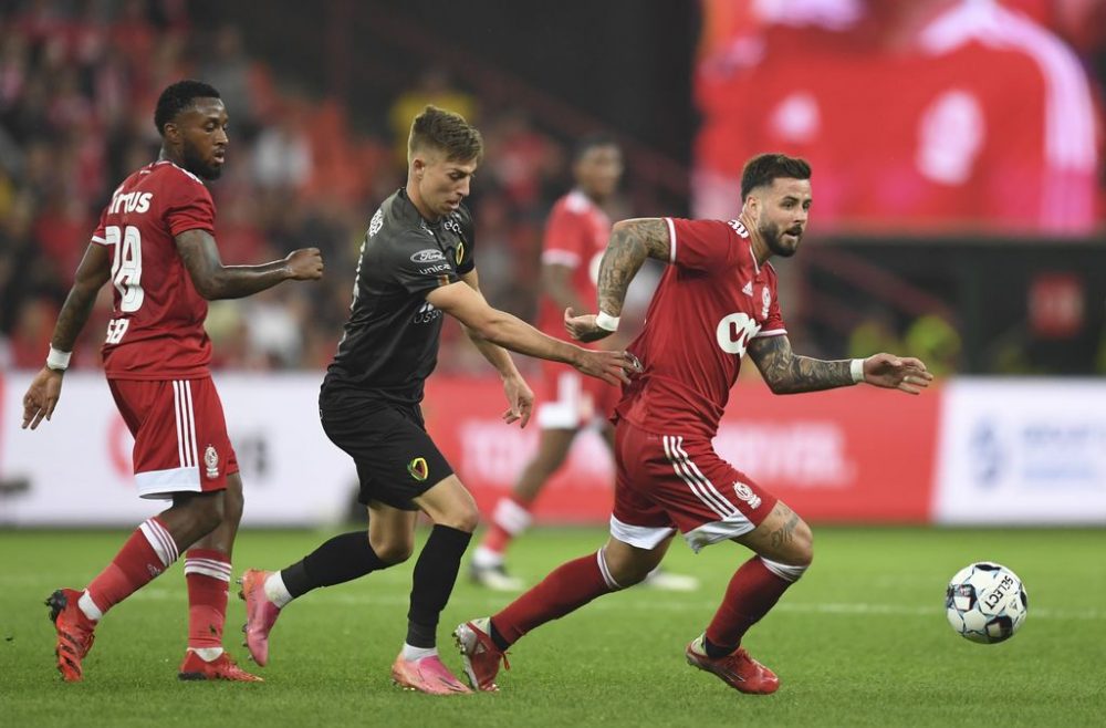
[[[542,362],[545,379],[538,405],[542,429],[580,429],[598,419],[606,423],[622,397],[622,388],[585,376],[567,364]]]

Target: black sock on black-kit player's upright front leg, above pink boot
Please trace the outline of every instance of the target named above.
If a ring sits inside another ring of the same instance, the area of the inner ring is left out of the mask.
[[[437,645],[438,617],[453,591],[461,557],[471,539],[471,533],[448,526],[430,530],[411,576],[411,606],[407,612],[407,644],[411,647]]]

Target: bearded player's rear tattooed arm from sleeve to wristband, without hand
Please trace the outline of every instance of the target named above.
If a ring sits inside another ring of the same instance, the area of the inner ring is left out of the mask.
[[[668,262],[671,242],[668,226],[659,218],[638,218],[615,223],[599,263],[599,311],[622,314],[626,289],[646,258]]]

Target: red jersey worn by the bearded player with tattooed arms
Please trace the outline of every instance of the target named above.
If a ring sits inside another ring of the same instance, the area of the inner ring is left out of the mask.
[[[645,329],[627,349],[644,371],[615,422],[654,434],[713,438],[749,341],[787,333],[775,270],[759,266],[740,220],[665,218],[672,257]]]

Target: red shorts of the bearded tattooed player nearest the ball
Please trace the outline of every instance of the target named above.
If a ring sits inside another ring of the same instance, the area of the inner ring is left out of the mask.
[[[615,462],[611,534],[639,549],[653,549],[679,529],[699,551],[749,533],[776,503],[702,437],[654,435],[620,420]]]

